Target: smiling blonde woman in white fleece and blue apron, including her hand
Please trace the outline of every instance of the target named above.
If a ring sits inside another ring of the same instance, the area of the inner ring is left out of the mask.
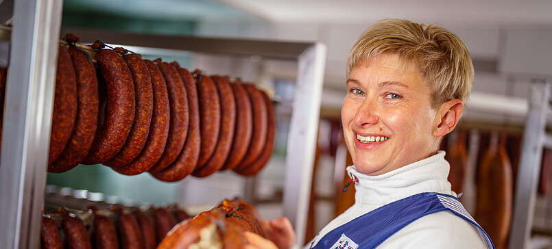
[[[352,47],[346,74],[341,121],[355,205],[306,248],[494,248],[451,190],[438,150],[472,88],[464,43],[442,27],[381,21]],[[248,234],[250,248],[293,245],[289,221],[266,224],[274,244]]]

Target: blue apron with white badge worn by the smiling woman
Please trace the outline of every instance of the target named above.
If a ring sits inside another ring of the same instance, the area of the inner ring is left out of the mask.
[[[391,202],[343,224],[320,239],[313,249],[376,248],[385,239],[425,215],[451,211],[470,222],[485,238],[487,248],[494,248],[483,228],[473,220],[459,200],[450,195],[421,193]]]

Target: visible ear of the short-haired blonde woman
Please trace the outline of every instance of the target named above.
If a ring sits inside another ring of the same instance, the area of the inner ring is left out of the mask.
[[[433,131],[433,135],[442,137],[453,131],[456,124],[458,124],[462,109],[464,109],[464,104],[459,99],[453,99],[442,103],[437,110],[437,127],[435,127]]]

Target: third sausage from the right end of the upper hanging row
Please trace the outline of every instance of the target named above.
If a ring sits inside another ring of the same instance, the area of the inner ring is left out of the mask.
[[[236,98],[236,125],[234,140],[221,170],[235,168],[248,152],[253,131],[253,111],[248,92],[239,83],[230,83]]]

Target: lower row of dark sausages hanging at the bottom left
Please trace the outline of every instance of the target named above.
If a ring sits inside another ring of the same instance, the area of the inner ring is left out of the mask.
[[[40,228],[42,249],[153,249],[178,222],[190,216],[176,207],[132,212],[114,207],[98,210],[90,207],[91,222],[67,209],[43,214]],[[84,213],[88,215],[89,213]],[[60,229],[61,228],[61,229]],[[62,236],[63,235],[63,236]]]

